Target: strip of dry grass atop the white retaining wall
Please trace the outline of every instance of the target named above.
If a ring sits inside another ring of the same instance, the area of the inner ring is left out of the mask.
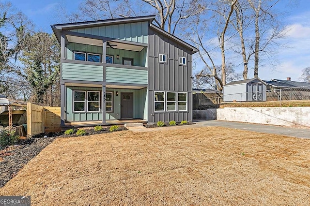
[[[270,101],[270,102],[236,102],[221,103],[219,108],[225,107],[278,107],[278,106],[310,106],[310,100]]]

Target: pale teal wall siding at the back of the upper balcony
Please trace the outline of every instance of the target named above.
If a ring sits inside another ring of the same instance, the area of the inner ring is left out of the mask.
[[[73,59],[74,51],[102,55],[102,46],[93,46],[78,43],[67,44],[67,59]],[[134,59],[134,66],[147,67],[147,47],[144,47],[140,52],[124,49],[112,49],[107,47],[107,55],[113,56],[114,64],[123,64],[123,58],[131,58]],[[119,55],[119,59],[116,59],[117,55]]]

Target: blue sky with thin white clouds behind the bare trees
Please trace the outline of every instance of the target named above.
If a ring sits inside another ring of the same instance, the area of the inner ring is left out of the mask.
[[[13,5],[22,11],[35,24],[37,30],[52,32],[51,24],[61,23],[55,18],[60,5],[70,9],[69,13],[78,9],[82,0],[12,0]],[[310,66],[310,1],[297,0],[297,4],[289,6],[289,0],[280,0],[275,6],[279,11],[288,11],[283,21],[288,25],[285,43],[289,47],[279,48],[276,53],[280,65],[276,69],[265,64],[260,67],[259,77],[264,80],[286,79],[298,81],[302,69]],[[220,57],[218,57],[220,59]],[[219,62],[220,64],[220,62]],[[196,70],[200,70],[197,67]],[[236,68],[242,72],[242,68]],[[253,70],[249,71],[249,78],[253,77]]]

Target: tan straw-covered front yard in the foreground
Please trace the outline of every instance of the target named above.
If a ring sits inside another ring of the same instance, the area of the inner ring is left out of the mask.
[[[58,138],[0,195],[57,206],[306,206],[310,140],[220,127]]]

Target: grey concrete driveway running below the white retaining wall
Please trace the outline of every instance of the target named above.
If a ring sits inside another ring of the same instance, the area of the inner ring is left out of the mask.
[[[193,122],[200,126],[228,127],[253,132],[282,134],[285,136],[310,139],[310,128],[273,126],[273,125],[220,121],[220,120],[194,120]]]

